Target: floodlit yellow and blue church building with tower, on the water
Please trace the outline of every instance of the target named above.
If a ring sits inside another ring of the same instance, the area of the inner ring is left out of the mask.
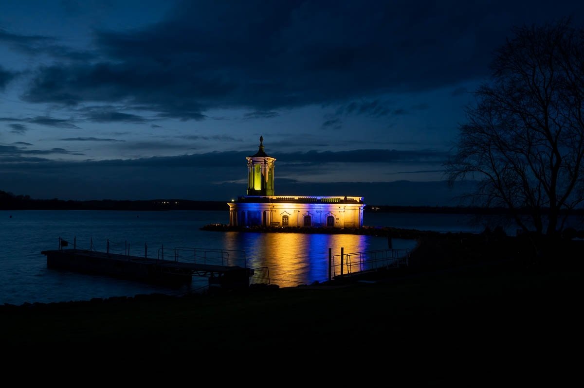
[[[248,191],[229,203],[230,226],[361,228],[363,197],[274,195],[274,163],[263,137],[259,150],[248,160]]]

